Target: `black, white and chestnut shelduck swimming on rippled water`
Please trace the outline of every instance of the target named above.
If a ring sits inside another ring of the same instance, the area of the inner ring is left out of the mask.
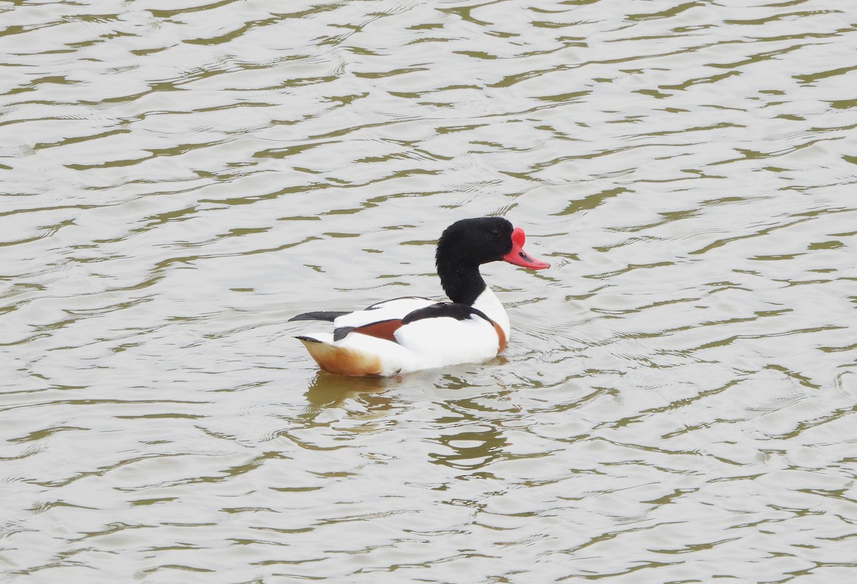
[[[461,219],[437,242],[435,265],[449,301],[403,296],[354,312],[319,311],[289,319],[333,323],[298,341],[321,369],[353,377],[392,377],[493,359],[509,342],[509,317],[479,267],[506,261],[528,270],[547,262],[524,252],[524,229],[506,218]]]

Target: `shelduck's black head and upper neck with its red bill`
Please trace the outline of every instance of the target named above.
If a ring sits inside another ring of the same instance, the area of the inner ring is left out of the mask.
[[[501,217],[462,219],[447,227],[437,242],[440,283],[453,302],[473,304],[485,289],[479,266],[500,259],[530,270],[549,265],[524,253],[524,230]]]

